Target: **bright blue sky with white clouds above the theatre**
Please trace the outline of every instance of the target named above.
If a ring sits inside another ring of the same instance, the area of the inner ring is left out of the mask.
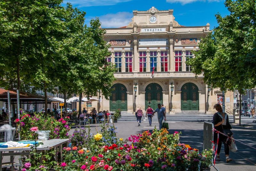
[[[182,26],[218,26],[215,14],[229,15],[224,0],[63,0],[86,12],[85,23],[99,17],[102,28],[127,26],[132,10],[147,11],[154,6],[158,10],[173,9],[175,20]]]

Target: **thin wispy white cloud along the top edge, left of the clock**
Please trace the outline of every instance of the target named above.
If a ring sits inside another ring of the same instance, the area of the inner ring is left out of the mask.
[[[72,5],[77,7],[86,7],[86,6],[107,6],[115,5],[122,2],[128,2],[132,0],[64,0],[63,3],[67,4],[70,2]]]

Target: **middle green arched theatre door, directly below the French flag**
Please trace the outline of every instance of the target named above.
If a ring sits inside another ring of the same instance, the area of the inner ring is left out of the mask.
[[[157,108],[157,104],[163,104],[163,89],[157,83],[148,84],[145,89],[145,108],[148,108],[148,105],[151,106],[152,109]]]

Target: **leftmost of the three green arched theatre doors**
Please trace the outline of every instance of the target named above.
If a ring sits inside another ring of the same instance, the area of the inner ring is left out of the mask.
[[[117,83],[111,87],[112,92],[109,97],[110,111],[121,109],[127,111],[127,89],[123,84]]]

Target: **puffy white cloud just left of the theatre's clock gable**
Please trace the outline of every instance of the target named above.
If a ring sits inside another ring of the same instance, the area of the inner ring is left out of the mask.
[[[118,28],[127,26],[132,21],[132,12],[117,12],[99,17],[102,28]]]

